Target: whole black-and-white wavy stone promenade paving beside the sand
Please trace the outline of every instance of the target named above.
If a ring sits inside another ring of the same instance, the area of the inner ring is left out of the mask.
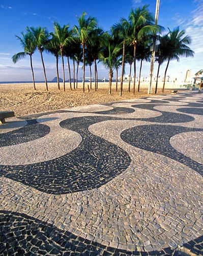
[[[203,95],[0,126],[1,255],[203,255]]]

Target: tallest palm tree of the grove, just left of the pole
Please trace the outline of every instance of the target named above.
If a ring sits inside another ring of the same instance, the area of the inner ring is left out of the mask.
[[[139,43],[143,37],[146,37],[146,35],[155,35],[158,31],[160,31],[161,27],[159,27],[158,25],[154,25],[154,17],[153,14],[149,12],[148,5],[138,7],[135,10],[132,9],[129,14],[129,23],[132,31],[130,44],[133,46],[134,49],[133,92],[135,94],[137,43]]]

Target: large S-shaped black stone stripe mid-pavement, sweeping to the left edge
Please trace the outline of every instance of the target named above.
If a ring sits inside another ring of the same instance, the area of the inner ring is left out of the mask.
[[[66,194],[98,188],[130,165],[126,151],[98,136],[88,127],[116,118],[95,116],[71,118],[61,126],[82,136],[77,148],[66,155],[36,164],[0,166],[0,175],[21,182],[45,193]]]

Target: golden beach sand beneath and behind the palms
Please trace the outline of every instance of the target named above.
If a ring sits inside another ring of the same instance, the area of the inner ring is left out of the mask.
[[[118,101],[138,97],[149,96],[146,88],[141,88],[140,93],[128,92],[128,83],[124,83],[123,95],[115,91],[115,83],[112,83],[111,95],[108,94],[108,83],[99,83],[98,91],[93,89],[88,92],[87,84],[85,93],[82,92],[82,83],[78,84],[77,90],[70,90],[69,83],[66,83],[66,91],[57,90],[55,83],[48,83],[49,91],[45,91],[44,83],[36,83],[37,90],[33,90],[33,84],[0,84],[0,111],[12,110],[17,117],[25,116],[51,110],[67,109],[69,107],[99,104],[109,101]],[[73,87],[73,84],[72,84]],[[120,83],[118,84],[120,89]],[[133,85],[131,85],[131,90]],[[136,87],[137,90],[137,87]],[[165,94],[171,90],[165,90]],[[161,93],[161,89],[158,90]]]

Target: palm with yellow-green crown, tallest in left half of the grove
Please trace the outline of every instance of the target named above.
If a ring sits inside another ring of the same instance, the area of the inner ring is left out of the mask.
[[[87,14],[85,12],[82,13],[80,17],[77,17],[78,26],[74,26],[74,31],[77,37],[80,39],[82,44],[82,57],[83,57],[83,92],[84,92],[84,77],[85,77],[85,47],[86,42],[88,41],[89,34],[91,31],[96,29],[97,20],[94,17],[85,18]]]

